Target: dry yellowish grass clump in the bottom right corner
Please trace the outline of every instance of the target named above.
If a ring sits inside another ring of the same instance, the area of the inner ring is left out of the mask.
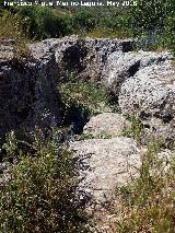
[[[140,174],[121,187],[120,233],[162,233],[175,231],[175,160],[158,156],[161,141],[150,143]]]

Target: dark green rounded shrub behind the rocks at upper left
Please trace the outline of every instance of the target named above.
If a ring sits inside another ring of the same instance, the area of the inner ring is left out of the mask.
[[[49,8],[20,8],[18,16],[24,34],[30,38],[60,37],[70,33],[69,16]]]

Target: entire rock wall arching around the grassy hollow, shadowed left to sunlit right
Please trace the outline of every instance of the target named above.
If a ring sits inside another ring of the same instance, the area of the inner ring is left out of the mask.
[[[170,53],[132,51],[132,39],[69,36],[28,45],[32,59],[19,62],[12,44],[0,47],[0,137],[20,125],[60,125],[56,86],[75,72],[82,80],[109,86],[122,113],[140,117],[144,139],[154,133],[174,140],[175,75]]]

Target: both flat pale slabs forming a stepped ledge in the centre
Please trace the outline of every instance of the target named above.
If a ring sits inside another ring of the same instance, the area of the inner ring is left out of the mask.
[[[121,114],[103,113],[90,119],[83,135],[94,138],[70,142],[77,158],[79,173],[78,195],[104,203],[112,198],[115,187],[126,184],[138,174],[145,151],[131,138],[121,137],[129,123]],[[110,138],[103,137],[104,133]]]

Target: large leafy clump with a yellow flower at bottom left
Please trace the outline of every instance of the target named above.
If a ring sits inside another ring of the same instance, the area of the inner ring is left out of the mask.
[[[2,150],[13,162],[10,180],[0,187],[1,232],[82,232],[72,158],[57,139],[44,139],[37,131],[34,143],[27,144],[9,136]],[[19,149],[20,143],[30,150]]]

